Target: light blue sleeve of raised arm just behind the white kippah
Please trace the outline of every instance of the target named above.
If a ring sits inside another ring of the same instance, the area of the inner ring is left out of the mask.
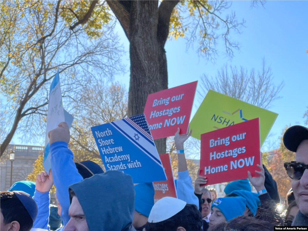
[[[187,204],[197,205],[199,209],[199,199],[194,193],[193,181],[188,174],[188,170],[178,172],[178,179],[176,181],[177,198],[185,201]]]

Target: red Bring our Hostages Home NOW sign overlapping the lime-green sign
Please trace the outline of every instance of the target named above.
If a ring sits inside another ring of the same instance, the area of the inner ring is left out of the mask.
[[[259,118],[201,134],[200,175],[207,184],[259,176],[261,164]]]

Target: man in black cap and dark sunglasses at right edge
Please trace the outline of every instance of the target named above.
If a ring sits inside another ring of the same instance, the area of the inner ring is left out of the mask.
[[[296,152],[295,161],[286,162],[284,167],[292,179],[292,188],[299,211],[293,226],[308,225],[308,128],[295,125],[288,128],[283,136],[287,149]]]

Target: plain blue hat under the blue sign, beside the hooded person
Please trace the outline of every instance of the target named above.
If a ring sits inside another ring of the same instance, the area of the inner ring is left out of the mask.
[[[140,183],[135,185],[135,210],[142,215],[149,217],[154,205],[153,183]]]

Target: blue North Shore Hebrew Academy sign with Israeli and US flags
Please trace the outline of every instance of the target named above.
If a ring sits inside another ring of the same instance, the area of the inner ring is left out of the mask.
[[[133,183],[166,180],[144,114],[91,127],[106,170],[120,170]]]

